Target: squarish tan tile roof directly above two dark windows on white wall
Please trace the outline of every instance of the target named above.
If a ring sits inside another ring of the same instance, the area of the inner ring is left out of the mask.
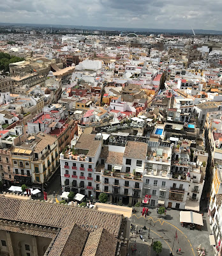
[[[145,159],[147,156],[147,143],[128,141],[126,144],[124,157]]]

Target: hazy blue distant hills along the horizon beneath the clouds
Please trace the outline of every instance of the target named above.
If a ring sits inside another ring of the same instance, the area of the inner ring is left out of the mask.
[[[73,25],[51,25],[51,24],[22,24],[22,23],[1,23],[0,26],[29,26],[32,28],[69,28],[69,29],[87,29],[87,30],[102,30],[102,31],[123,31],[123,32],[150,32],[154,34],[164,33],[182,33],[182,34],[193,34],[191,29],[152,29],[152,28],[115,28],[115,27],[97,27],[97,26],[73,26]],[[198,35],[222,35],[222,31],[218,30],[207,30],[207,29],[194,29]]]

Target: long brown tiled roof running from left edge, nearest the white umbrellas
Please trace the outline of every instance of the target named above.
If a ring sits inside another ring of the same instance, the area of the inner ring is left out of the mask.
[[[122,215],[0,196],[0,219],[57,228],[76,223],[88,232],[105,228],[118,237]]]

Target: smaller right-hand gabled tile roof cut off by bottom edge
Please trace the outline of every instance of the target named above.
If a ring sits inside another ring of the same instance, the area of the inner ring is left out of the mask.
[[[82,256],[114,256],[118,239],[101,228],[89,234]]]

